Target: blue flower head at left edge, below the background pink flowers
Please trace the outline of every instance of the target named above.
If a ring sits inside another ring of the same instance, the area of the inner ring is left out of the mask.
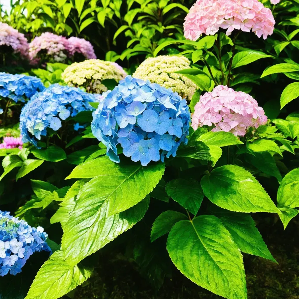
[[[0,73],[0,97],[8,97],[15,102],[25,102],[45,86],[39,78],[22,74]]]

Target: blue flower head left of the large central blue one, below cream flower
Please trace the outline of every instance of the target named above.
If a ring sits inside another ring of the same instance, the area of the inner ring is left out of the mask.
[[[81,89],[53,84],[36,93],[23,107],[20,115],[22,141],[37,147],[37,140],[47,135],[47,128],[57,131],[61,120],[76,116],[81,111],[92,110],[89,102],[98,102],[93,94]]]

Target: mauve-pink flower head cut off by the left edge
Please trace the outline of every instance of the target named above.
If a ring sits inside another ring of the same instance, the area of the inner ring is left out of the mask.
[[[0,46],[2,45],[11,46],[14,53],[20,53],[23,57],[28,54],[28,41],[24,34],[0,22]]]

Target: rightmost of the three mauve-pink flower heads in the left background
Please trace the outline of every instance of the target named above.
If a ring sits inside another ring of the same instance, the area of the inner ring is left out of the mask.
[[[67,40],[66,46],[70,57],[74,56],[75,53],[79,53],[86,59],[97,59],[93,46],[84,38],[72,36]]]

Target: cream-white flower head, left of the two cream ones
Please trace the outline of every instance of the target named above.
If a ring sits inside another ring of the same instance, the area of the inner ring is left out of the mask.
[[[115,62],[89,59],[69,65],[61,76],[68,86],[82,86],[87,92],[101,94],[108,90],[101,81],[114,79],[118,83],[126,72]]]

